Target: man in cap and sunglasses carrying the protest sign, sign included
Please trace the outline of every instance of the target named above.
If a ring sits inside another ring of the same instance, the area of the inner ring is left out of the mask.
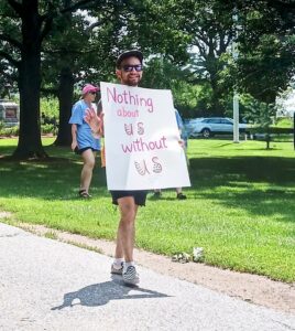
[[[133,261],[135,217],[139,205],[145,205],[146,190],[190,185],[171,92],[138,87],[142,62],[139,51],[122,53],[116,71],[121,85],[100,84],[107,182],[120,210],[111,273],[132,285],[139,282]],[[85,119],[99,132],[100,120],[94,111]]]

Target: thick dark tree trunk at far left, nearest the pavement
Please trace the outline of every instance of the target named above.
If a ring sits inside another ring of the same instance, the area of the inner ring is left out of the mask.
[[[22,52],[19,71],[20,135],[13,158],[44,158],[40,126],[41,44],[37,1],[23,6]]]

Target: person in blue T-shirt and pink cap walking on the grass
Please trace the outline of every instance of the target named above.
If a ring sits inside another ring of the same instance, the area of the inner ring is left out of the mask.
[[[96,163],[96,153],[100,150],[100,140],[95,138],[91,128],[84,117],[87,109],[95,109],[95,99],[98,87],[86,84],[81,90],[81,98],[72,108],[72,150],[83,158],[83,169],[80,174],[79,196],[89,199],[89,188],[92,179],[92,170]]]

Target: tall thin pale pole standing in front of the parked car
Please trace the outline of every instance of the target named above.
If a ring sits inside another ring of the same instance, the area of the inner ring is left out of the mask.
[[[239,57],[239,51],[238,51],[238,12],[237,9],[234,9],[233,15],[233,29],[234,29],[234,38],[232,42],[232,57],[236,62]],[[233,86],[233,99],[232,99],[232,108],[233,108],[233,142],[239,143],[240,142],[240,132],[239,132],[239,93],[238,93],[238,79],[236,79],[236,84]]]

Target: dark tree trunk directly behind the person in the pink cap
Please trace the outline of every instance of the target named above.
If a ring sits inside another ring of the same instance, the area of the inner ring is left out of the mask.
[[[54,142],[56,146],[70,146],[72,134],[68,124],[74,95],[74,77],[69,67],[65,67],[61,72],[58,100],[59,100],[59,127],[58,135]]]

